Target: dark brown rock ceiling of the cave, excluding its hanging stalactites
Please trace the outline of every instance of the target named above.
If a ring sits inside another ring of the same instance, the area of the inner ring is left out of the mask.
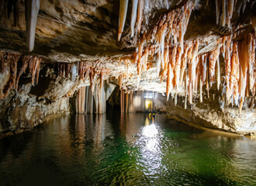
[[[162,15],[182,9],[183,5],[192,2],[189,4],[192,8],[189,8],[191,12],[184,32],[184,42],[199,40],[198,53],[202,54],[214,50],[218,45],[217,39],[230,35],[234,30],[239,30],[234,40],[240,40],[244,34],[254,30],[256,12],[255,1],[231,1],[234,3],[234,11],[230,26],[220,26],[221,24],[216,23],[216,14],[217,9],[221,12],[221,7],[216,8],[216,2],[223,1],[145,0],[140,34],[137,32],[132,37],[130,0],[123,33],[118,41],[119,1],[41,0],[35,44],[33,51],[29,52],[26,47],[26,2],[0,2],[1,51],[42,57],[42,63],[86,61],[99,65],[100,61],[100,66],[108,68],[110,76],[116,77],[116,84],[122,71],[126,71],[126,64],[120,63],[120,57],[132,57],[139,50],[140,39],[150,34],[150,30],[154,29]],[[160,81],[157,76],[155,58],[150,60],[153,65],[148,67],[147,73],[141,73],[140,88],[158,88],[157,91],[165,92],[165,82]],[[136,87],[137,76],[140,75],[137,71],[137,64],[130,64],[130,75],[123,81],[131,87]]]

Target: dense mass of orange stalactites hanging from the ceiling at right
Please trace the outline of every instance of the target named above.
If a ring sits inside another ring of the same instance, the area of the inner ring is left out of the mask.
[[[237,1],[216,0],[216,24],[229,27],[231,34],[220,36],[212,51],[199,53],[199,40],[184,41],[189,17],[195,5],[193,1],[187,1],[182,7],[161,15],[152,29],[139,35],[137,50],[133,56],[121,57],[120,60],[125,64],[137,64],[138,82],[141,73],[147,73],[147,67],[151,65],[147,60],[156,60],[157,77],[160,82],[166,81],[167,99],[171,92],[176,92],[177,98],[178,88],[181,87],[185,91],[185,108],[187,96],[189,103],[192,103],[194,95],[199,92],[202,102],[203,87],[206,87],[209,97],[209,88],[216,82],[216,89],[220,90],[221,85],[223,94],[226,94],[227,105],[239,105],[241,111],[245,97],[252,97],[251,102],[254,102],[255,33],[247,33],[237,40],[240,31],[231,26],[236,3]],[[132,36],[134,16],[138,16],[135,13],[139,9],[137,5],[140,5],[140,1],[133,1]],[[243,12],[246,5],[247,1],[242,2]],[[220,54],[225,63],[226,76],[223,82],[220,78],[223,73],[220,69]],[[124,88],[123,79],[126,77],[129,77],[126,73],[120,74],[120,88]]]

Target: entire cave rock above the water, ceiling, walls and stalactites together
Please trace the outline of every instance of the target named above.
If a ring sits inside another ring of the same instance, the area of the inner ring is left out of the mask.
[[[184,122],[254,133],[255,12],[253,0],[0,1],[0,133],[104,113],[108,98],[139,111],[139,91],[165,94]]]

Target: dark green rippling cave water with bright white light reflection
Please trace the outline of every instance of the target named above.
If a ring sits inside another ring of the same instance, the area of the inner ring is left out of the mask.
[[[256,140],[164,114],[63,116],[0,140],[0,185],[256,185]]]

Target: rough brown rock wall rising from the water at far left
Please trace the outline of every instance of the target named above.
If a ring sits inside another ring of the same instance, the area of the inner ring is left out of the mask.
[[[28,129],[70,112],[69,98],[61,97],[54,101],[39,100],[29,95],[31,85],[25,84],[19,92],[12,90],[7,98],[0,101],[0,137],[21,133]]]

